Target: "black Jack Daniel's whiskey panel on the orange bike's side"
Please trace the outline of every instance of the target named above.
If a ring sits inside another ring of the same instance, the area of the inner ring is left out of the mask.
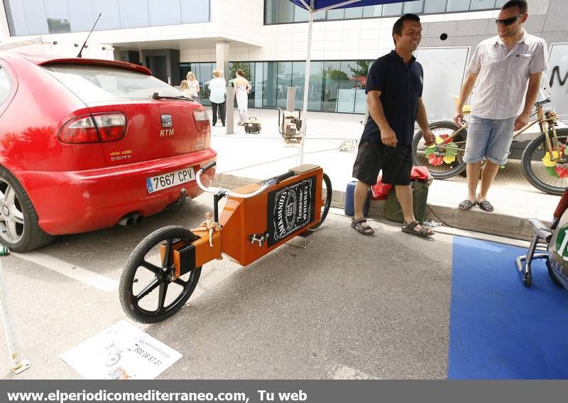
[[[317,176],[268,193],[268,247],[314,221]]]

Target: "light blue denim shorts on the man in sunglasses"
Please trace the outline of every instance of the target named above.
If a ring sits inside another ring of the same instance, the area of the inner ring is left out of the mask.
[[[506,163],[514,125],[515,117],[483,119],[472,116],[467,127],[464,162],[475,163],[485,158],[497,165]]]

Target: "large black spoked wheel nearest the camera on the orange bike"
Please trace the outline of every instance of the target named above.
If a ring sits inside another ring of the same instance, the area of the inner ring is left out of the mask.
[[[134,248],[119,286],[121,305],[129,318],[156,323],[182,308],[197,286],[201,267],[175,279],[173,250],[197,239],[190,230],[171,225],[155,230]]]

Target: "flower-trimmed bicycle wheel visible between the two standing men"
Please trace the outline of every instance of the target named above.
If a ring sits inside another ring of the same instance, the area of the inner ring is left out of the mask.
[[[449,144],[443,144],[444,139],[459,129],[454,122],[443,121],[430,124],[430,130],[436,136],[436,144],[427,147],[422,139],[422,131],[415,134],[412,144],[413,162],[417,166],[428,168],[430,175],[437,179],[447,179],[456,176],[466,168],[463,161],[466,146],[467,131],[463,129]]]

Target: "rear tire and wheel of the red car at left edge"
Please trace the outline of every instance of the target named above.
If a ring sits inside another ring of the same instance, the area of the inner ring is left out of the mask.
[[[54,235],[38,225],[38,213],[21,183],[0,166],[0,243],[13,252],[28,252],[48,245]]]

